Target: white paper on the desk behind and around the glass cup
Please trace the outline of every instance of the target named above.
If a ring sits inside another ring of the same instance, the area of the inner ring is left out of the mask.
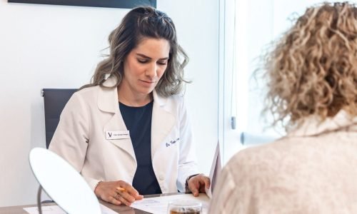
[[[136,200],[131,204],[132,208],[144,210],[149,213],[166,214],[170,201],[173,200],[193,200],[202,203],[202,213],[208,213],[209,198],[206,194],[201,193],[198,197],[192,194],[167,195],[154,198],[143,198]]]

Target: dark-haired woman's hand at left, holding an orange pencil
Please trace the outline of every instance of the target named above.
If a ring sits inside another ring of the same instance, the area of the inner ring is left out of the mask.
[[[119,190],[118,188],[124,188],[125,190]],[[135,200],[144,198],[143,195],[139,195],[138,191],[124,180],[101,181],[96,186],[94,193],[101,200],[115,205],[124,204],[130,206]]]

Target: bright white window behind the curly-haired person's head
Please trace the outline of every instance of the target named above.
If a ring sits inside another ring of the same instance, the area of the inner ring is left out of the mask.
[[[223,163],[247,146],[273,141],[285,135],[283,128],[267,128],[262,118],[263,80],[253,72],[271,41],[278,39],[291,22],[317,0],[222,0],[220,21],[220,141]],[[331,1],[330,1],[331,2]],[[224,15],[222,15],[224,14]],[[231,118],[236,118],[232,128]],[[243,143],[243,145],[242,145]]]

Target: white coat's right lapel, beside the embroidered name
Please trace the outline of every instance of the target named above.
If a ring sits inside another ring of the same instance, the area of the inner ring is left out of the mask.
[[[165,110],[166,98],[161,98],[153,91],[154,106],[151,119],[151,157],[154,157],[160,146],[164,145],[164,139],[169,135],[175,124],[175,117]]]

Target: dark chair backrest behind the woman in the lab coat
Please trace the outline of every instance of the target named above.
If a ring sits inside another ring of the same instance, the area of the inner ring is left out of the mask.
[[[54,131],[59,124],[59,116],[66,106],[66,103],[76,92],[75,88],[43,88],[42,96],[44,97],[45,111],[45,128],[46,128],[46,148],[49,148]]]

